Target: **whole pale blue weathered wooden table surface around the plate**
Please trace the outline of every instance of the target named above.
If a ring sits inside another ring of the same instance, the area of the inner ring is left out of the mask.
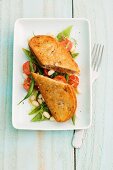
[[[93,123],[80,150],[73,131],[21,131],[11,122],[14,22],[20,17],[86,17],[92,45],[105,45],[93,86]],[[113,170],[113,0],[0,0],[0,170]]]

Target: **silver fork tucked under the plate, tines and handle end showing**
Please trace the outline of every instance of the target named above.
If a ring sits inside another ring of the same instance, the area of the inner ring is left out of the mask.
[[[104,45],[94,44],[92,52],[91,52],[92,85],[93,85],[94,81],[99,76],[99,69],[100,69],[100,65],[101,65],[101,61],[102,61],[103,51],[104,51]],[[81,147],[84,136],[85,136],[84,131],[85,130],[83,130],[83,129],[74,131],[73,139],[72,139],[72,145],[74,148]]]

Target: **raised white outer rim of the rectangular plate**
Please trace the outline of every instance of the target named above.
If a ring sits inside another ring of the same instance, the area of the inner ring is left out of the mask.
[[[84,18],[84,17],[81,17],[81,18],[18,18],[16,21],[15,21],[15,24],[14,24],[14,33],[13,33],[13,35],[14,35],[14,37],[13,37],[13,67],[14,67],[14,54],[15,54],[15,31],[16,31],[16,25],[18,24],[18,22],[20,22],[20,21],[41,21],[41,20],[45,20],[45,21],[47,21],[47,20],[56,20],[56,21],[58,21],[58,20],[64,20],[64,21],[66,21],[66,20],[69,20],[69,21],[73,21],[73,20],[75,20],[75,21],[79,21],[79,20],[81,20],[81,21],[86,21],[87,23],[88,23],[88,34],[89,34],[89,66],[90,66],[90,73],[89,73],[89,75],[90,75],[90,113],[89,113],[89,124],[87,125],[87,126],[84,126],[84,127],[78,127],[78,128],[76,128],[75,126],[73,126],[73,127],[70,127],[70,128],[59,128],[59,129],[57,129],[57,128],[54,128],[54,129],[51,129],[51,128],[34,128],[34,127],[20,127],[20,126],[18,126],[17,124],[15,124],[15,121],[14,121],[14,111],[13,111],[13,93],[14,93],[14,91],[13,91],[13,83],[14,83],[14,81],[13,81],[13,77],[14,77],[14,69],[13,69],[13,73],[12,73],[12,125],[13,125],[13,127],[15,128],[15,129],[19,129],[19,130],[39,130],[39,131],[48,131],[48,130],[50,130],[50,131],[56,131],[56,130],[58,130],[58,131],[60,131],[60,130],[81,130],[81,129],[88,129],[88,128],[90,128],[91,127],[91,124],[92,124],[92,79],[91,79],[91,77],[92,77],[92,71],[91,71],[91,25],[90,25],[90,20],[89,19],[87,19],[87,18]]]

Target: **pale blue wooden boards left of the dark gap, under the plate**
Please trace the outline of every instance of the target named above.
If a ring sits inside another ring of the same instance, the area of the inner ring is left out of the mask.
[[[72,131],[21,131],[15,130],[11,122],[13,27],[15,20],[20,17],[71,17],[71,12],[71,1],[69,0],[0,1],[1,169],[73,169]]]

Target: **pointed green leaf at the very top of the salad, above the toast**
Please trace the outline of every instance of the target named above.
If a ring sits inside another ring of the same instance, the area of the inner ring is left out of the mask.
[[[69,38],[70,33],[71,33],[71,30],[72,30],[72,27],[73,27],[73,26],[69,26],[69,27],[67,27],[66,29],[64,29],[62,32],[60,32],[60,33],[57,35],[58,41],[61,41],[63,38]]]

